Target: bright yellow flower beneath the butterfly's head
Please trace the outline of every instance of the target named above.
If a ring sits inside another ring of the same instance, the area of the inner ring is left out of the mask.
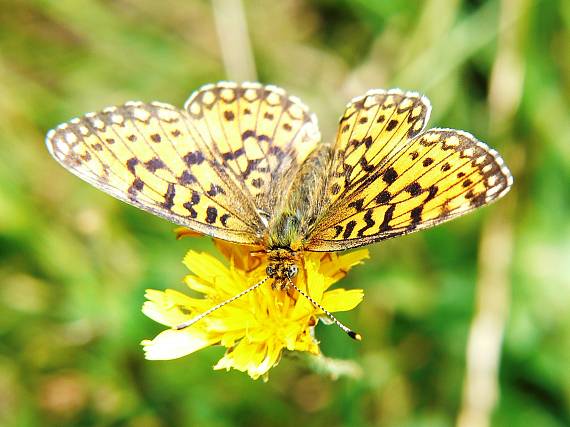
[[[164,292],[149,289],[143,313],[175,328],[266,277],[264,255],[253,257],[248,248],[221,241],[216,241],[216,245],[229,259],[229,267],[207,253],[191,250],[184,258],[192,273],[184,281],[202,297],[172,289]],[[367,250],[346,255],[306,253],[296,284],[330,312],[351,310],[362,301],[363,291],[329,288],[365,258]],[[153,340],[143,341],[146,358],[175,359],[210,345],[222,345],[227,351],[214,369],[233,368],[247,372],[253,379],[267,378],[267,372],[279,363],[284,349],[320,354],[313,328],[324,313],[297,292],[290,295],[272,289],[268,280],[192,326],[167,329]]]

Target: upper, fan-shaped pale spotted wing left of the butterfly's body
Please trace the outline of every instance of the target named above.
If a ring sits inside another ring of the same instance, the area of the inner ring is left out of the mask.
[[[320,141],[315,116],[275,86],[209,85],[186,109],[201,139],[210,141],[211,155],[268,216],[286,190],[286,172],[294,174]]]

